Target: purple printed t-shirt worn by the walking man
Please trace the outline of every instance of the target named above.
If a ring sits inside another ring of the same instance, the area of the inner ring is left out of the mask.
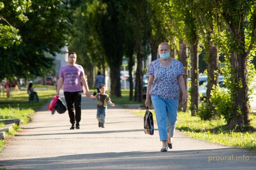
[[[60,77],[63,78],[64,92],[81,91],[80,76],[84,76],[84,68],[78,64],[65,65],[60,68]]]

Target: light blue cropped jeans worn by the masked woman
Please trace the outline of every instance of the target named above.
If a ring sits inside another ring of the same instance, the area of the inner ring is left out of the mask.
[[[166,100],[158,96],[151,96],[151,100],[156,113],[160,141],[166,141],[167,133],[173,137],[178,122],[178,100]]]

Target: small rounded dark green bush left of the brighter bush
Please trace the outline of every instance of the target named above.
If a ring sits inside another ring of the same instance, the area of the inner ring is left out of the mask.
[[[206,100],[203,100],[202,103],[200,104],[197,115],[202,120],[210,120],[214,116],[214,111],[212,110],[212,107],[210,107],[210,104]]]

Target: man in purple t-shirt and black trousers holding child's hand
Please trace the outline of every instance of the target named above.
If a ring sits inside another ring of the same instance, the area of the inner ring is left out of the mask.
[[[60,88],[63,84],[64,96],[68,106],[68,115],[72,126],[70,129],[80,129],[79,122],[81,120],[81,97],[82,89],[81,82],[85,88],[85,94],[90,97],[89,88],[84,78],[84,69],[76,63],[76,53],[71,52],[68,55],[68,64],[60,68],[60,78],[58,81],[56,95],[59,95]],[[74,113],[74,107],[76,114]]]

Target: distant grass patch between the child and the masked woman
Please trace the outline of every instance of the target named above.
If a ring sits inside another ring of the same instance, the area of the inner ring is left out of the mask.
[[[113,103],[115,104],[144,104],[145,103],[145,99],[141,102],[135,102],[135,101],[130,101],[129,100],[129,94],[130,94],[130,90],[121,90],[121,98],[118,97],[114,97],[110,95],[110,99]],[[134,90],[133,90],[133,95],[134,95]]]

